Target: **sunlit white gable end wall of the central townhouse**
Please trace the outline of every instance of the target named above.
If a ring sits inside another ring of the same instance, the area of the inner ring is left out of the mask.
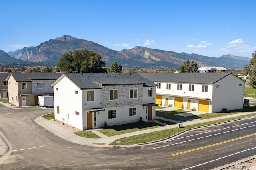
[[[78,91],[78,94],[75,91]],[[59,106],[59,114],[57,106]],[[75,114],[76,111],[79,112],[79,115]],[[82,90],[66,77],[54,86],[54,115],[59,121],[83,129]]]

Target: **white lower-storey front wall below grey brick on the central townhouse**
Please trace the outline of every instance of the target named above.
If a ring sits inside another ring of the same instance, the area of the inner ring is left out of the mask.
[[[136,108],[136,115],[129,116],[129,109]],[[125,107],[111,107],[105,108],[105,111],[100,111],[97,114],[96,122],[97,127],[103,127],[105,121],[108,126],[118,125],[118,124],[126,124],[126,123],[134,123],[140,120],[140,116],[142,120],[145,120],[145,108],[143,106],[125,106]],[[108,110],[116,110],[116,118],[108,119]],[[153,112],[153,109],[152,109]],[[152,114],[153,117],[153,114]],[[154,114],[155,118],[155,114]]]

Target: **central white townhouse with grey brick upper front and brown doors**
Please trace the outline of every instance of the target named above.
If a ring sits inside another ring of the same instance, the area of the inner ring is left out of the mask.
[[[136,73],[64,73],[52,86],[55,119],[80,130],[155,119],[156,84]]]

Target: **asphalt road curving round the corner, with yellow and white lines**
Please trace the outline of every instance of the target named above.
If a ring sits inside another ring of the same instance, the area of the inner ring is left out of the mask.
[[[12,154],[0,169],[207,170],[256,153],[252,149],[256,147],[256,118],[196,129],[154,145],[101,148],[70,143],[34,122],[36,117],[52,112],[10,109],[0,104],[0,131],[13,145]]]

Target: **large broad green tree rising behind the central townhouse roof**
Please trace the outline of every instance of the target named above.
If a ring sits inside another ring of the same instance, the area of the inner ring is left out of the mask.
[[[102,72],[106,73],[102,56],[88,49],[69,51],[57,61],[57,68],[63,72]]]

